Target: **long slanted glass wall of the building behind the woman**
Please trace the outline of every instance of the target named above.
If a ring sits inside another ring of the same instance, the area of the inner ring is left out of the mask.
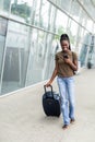
[[[95,22],[80,2],[0,0],[0,95],[49,79],[62,33],[81,66],[95,66]]]

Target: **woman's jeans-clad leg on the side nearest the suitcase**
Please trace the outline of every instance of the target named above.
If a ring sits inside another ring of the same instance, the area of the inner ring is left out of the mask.
[[[69,125],[70,118],[69,118],[69,103],[67,97],[66,79],[58,76],[57,82],[58,82],[59,93],[61,97],[61,113],[63,116],[63,123]]]

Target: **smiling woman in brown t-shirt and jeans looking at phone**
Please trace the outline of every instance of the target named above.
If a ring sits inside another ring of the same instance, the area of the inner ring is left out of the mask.
[[[67,34],[60,37],[61,51],[56,54],[56,67],[51,79],[46,84],[51,85],[57,78],[59,93],[61,97],[61,111],[63,116],[63,129],[68,128],[70,122],[74,122],[74,71],[78,70],[78,56],[71,51],[70,39]]]

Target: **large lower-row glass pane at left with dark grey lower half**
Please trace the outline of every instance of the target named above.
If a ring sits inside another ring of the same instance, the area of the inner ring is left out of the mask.
[[[28,40],[29,28],[10,21],[7,35],[2,94],[25,86],[29,51]]]

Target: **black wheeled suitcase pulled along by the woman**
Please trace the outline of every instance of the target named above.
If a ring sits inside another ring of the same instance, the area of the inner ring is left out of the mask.
[[[51,88],[50,91],[46,91],[46,86],[44,86],[44,88],[45,88],[45,94],[43,95],[43,108],[45,114],[47,116],[59,117],[61,114],[59,94],[52,91],[51,85],[50,85]]]

